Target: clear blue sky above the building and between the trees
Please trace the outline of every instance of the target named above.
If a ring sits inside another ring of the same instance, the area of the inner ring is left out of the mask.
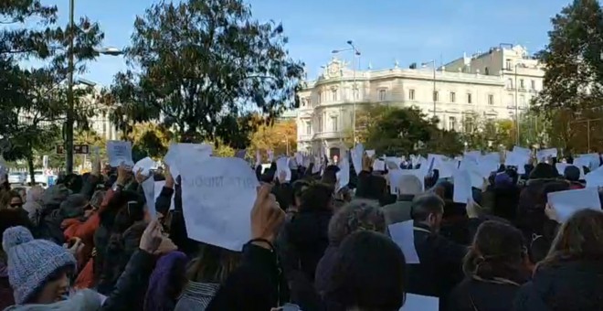
[[[282,22],[290,38],[291,57],[301,59],[316,77],[334,48],[354,40],[362,53],[361,68],[401,67],[412,62],[444,62],[487,50],[500,43],[543,48],[550,17],[569,0],[248,0],[260,21]],[[76,0],[76,16],[89,16],[105,32],[105,46],[127,46],[135,16],[153,0]],[[58,5],[67,23],[69,0],[43,0]],[[342,55],[351,59],[351,54]],[[121,57],[102,56],[81,78],[103,85],[126,68]]]

